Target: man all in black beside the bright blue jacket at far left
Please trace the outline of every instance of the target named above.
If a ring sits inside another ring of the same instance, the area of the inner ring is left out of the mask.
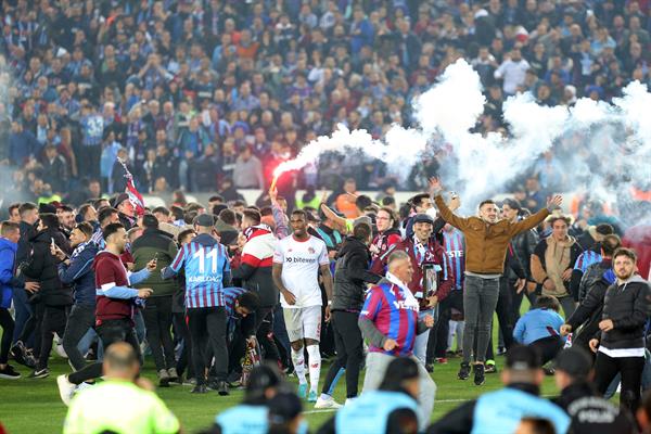
[[[40,284],[35,330],[37,333],[40,330],[41,346],[36,370],[29,376],[44,379],[50,374],[48,358],[52,350],[52,339],[54,333],[63,336],[67,308],[73,304],[71,289],[64,286],[59,279],[58,259],[52,255],[51,246],[56,245],[66,252],[69,251],[69,243],[59,230],[59,218],[55,214],[40,215],[38,231],[31,239],[31,258],[23,272],[25,277],[34,279]]]

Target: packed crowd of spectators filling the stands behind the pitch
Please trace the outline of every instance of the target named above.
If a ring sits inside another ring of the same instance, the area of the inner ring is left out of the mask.
[[[649,80],[647,1],[2,2],[0,161],[31,200],[123,191],[268,187],[273,168],[336,124],[382,137],[410,101],[467,59],[485,86],[481,132],[518,91],[541,104],[610,100]],[[437,170],[423,156],[409,184]],[[281,181],[360,190],[396,180],[368,158],[326,155]],[[539,171],[535,169],[534,171]],[[8,201],[11,202],[11,201]]]

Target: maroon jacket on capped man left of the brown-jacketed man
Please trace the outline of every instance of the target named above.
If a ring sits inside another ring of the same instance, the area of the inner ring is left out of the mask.
[[[413,267],[413,277],[409,283],[409,289],[417,298],[420,298],[421,308],[425,307],[423,298],[426,294],[423,292],[423,269],[422,264],[433,264],[441,267],[441,271],[436,273],[437,291],[436,296],[438,302],[443,301],[450,293],[450,290],[455,285],[455,275],[452,273],[452,267],[449,258],[447,257],[445,250],[434,238],[431,238],[427,243],[427,250],[425,257],[422,263],[419,263],[416,255],[416,247],[413,245],[413,238],[405,239],[396,245],[395,250],[401,250],[407,252],[409,258],[411,258],[411,266]]]

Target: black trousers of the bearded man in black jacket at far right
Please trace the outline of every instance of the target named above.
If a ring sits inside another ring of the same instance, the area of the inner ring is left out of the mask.
[[[640,404],[640,387],[642,384],[644,357],[610,357],[597,353],[595,361],[595,385],[600,394],[604,394],[615,375],[622,374],[622,392],[620,407],[635,414]]]

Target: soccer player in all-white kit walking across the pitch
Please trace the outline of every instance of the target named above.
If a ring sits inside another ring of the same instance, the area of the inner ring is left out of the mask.
[[[298,376],[298,396],[307,395],[303,344],[309,362],[308,401],[317,401],[321,373],[321,289],[319,271],[328,295],[326,320],[330,319],[332,275],[326,243],[307,232],[307,215],[298,209],[292,213],[293,234],[279,241],[273,254],[273,283],[280,291],[285,328],[292,343],[292,362]]]

